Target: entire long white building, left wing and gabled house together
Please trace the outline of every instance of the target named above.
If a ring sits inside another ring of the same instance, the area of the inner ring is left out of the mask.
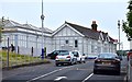
[[[46,47],[47,54],[58,49],[79,50],[86,55],[116,52],[117,40],[97,28],[95,21],[91,28],[65,22],[54,32],[44,27],[44,42],[42,43],[41,27],[6,20],[1,46],[7,47],[9,37],[10,44],[15,47],[15,52],[23,55],[31,55],[33,50],[33,56],[40,56],[42,44]]]

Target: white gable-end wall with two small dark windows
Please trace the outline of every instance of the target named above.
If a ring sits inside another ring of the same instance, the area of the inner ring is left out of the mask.
[[[75,47],[75,39],[78,40],[78,47]],[[68,44],[66,44],[68,40]],[[65,26],[53,37],[53,50],[68,49],[82,51],[82,37],[74,32],[70,27]]]

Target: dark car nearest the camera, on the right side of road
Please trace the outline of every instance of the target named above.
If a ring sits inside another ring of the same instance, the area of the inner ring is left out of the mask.
[[[95,59],[94,73],[98,73],[101,70],[114,71],[120,74],[121,60],[117,54],[99,54]]]

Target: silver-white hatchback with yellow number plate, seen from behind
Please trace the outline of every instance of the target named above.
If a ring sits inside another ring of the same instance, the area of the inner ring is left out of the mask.
[[[77,63],[77,57],[74,56],[72,51],[68,50],[61,51],[56,56],[55,65],[58,66],[64,63],[68,63],[68,65]]]

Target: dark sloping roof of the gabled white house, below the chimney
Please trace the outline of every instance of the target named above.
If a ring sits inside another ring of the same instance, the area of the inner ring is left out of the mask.
[[[94,31],[91,28],[80,26],[80,25],[77,25],[77,24],[73,24],[73,23],[68,23],[68,22],[66,22],[66,24],[74,27],[75,30],[77,30],[79,33],[81,33],[86,37],[94,38],[94,39],[99,39],[100,33],[98,31]]]

